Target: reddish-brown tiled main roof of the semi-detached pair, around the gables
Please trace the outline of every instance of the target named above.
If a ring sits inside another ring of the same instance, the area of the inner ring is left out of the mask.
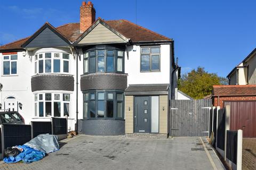
[[[159,35],[149,29],[143,28],[127,20],[105,21],[110,27],[121,33],[133,42],[138,41],[172,41],[171,38]],[[79,23],[68,23],[56,28],[63,36],[74,42],[82,35]],[[31,36],[0,46],[0,51],[23,49],[21,47]]]

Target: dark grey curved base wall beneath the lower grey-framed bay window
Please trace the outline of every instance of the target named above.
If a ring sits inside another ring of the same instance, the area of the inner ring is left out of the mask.
[[[78,120],[78,133],[88,135],[123,135],[124,120]]]

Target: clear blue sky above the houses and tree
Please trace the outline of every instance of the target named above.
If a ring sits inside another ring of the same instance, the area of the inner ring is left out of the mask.
[[[174,40],[182,73],[198,66],[221,77],[256,48],[255,0],[92,0],[96,18],[126,19]],[[82,0],[0,0],[0,44],[79,22]]]

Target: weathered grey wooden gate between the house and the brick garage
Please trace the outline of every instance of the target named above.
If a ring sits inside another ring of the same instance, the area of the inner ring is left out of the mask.
[[[170,135],[201,137],[209,135],[211,99],[171,100]]]

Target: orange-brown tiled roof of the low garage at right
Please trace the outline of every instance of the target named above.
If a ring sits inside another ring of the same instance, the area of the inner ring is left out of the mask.
[[[256,96],[256,85],[214,85],[212,96]]]

